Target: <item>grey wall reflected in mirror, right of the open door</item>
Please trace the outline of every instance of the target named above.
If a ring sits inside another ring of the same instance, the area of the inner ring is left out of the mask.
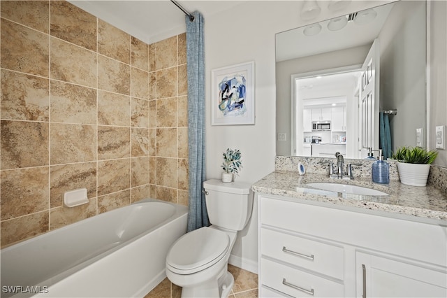
[[[379,34],[380,105],[397,109],[390,116],[393,151],[416,146],[416,129],[427,126],[426,45],[420,42],[426,38],[425,14],[425,2],[404,1],[393,7]]]

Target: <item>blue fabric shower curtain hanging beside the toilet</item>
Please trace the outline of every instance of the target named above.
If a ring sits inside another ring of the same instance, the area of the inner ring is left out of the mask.
[[[205,57],[203,15],[186,16],[186,67],[188,74],[189,213],[188,229],[210,225],[202,183],[205,180]]]

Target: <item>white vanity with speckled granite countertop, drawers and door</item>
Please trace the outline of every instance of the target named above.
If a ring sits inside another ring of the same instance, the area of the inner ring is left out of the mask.
[[[275,171],[253,185],[259,297],[447,297],[445,193],[367,179],[349,183],[390,195],[306,186],[325,179]]]

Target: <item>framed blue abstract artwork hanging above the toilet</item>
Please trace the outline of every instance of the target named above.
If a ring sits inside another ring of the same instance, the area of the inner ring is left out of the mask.
[[[254,61],[211,71],[211,125],[254,124]]]

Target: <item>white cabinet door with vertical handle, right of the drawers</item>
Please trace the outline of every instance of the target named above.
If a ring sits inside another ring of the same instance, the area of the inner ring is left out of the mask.
[[[411,262],[356,253],[357,297],[447,297],[447,274]]]

